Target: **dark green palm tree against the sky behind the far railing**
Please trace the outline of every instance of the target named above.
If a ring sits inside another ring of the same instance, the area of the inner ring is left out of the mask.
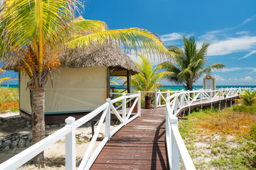
[[[196,40],[194,36],[185,38],[183,35],[183,49],[175,46],[170,46],[169,51],[175,52],[174,61],[164,62],[163,69],[169,72],[174,72],[171,76],[166,77],[176,84],[183,84],[186,90],[193,90],[193,83],[196,82],[204,73],[212,72],[215,69],[222,69],[225,65],[214,63],[205,67],[207,64],[206,54],[210,43],[204,41],[200,49],[197,49]]]

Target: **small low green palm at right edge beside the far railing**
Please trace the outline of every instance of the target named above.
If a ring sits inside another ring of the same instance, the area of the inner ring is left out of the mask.
[[[242,102],[245,106],[255,106],[256,103],[256,91],[250,92],[249,90],[242,91],[242,94],[239,94],[240,99],[237,99],[239,102]]]

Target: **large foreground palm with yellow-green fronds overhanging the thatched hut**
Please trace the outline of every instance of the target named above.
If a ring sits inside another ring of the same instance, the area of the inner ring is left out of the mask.
[[[0,55],[18,57],[19,72],[29,78],[33,91],[33,143],[45,136],[44,101],[50,72],[60,67],[61,54],[68,48],[118,42],[129,49],[160,57],[171,56],[159,37],[148,30],[108,30],[102,21],[75,20],[79,0],[6,0],[1,6]],[[36,161],[37,160],[37,161]],[[43,160],[43,153],[35,162]]]

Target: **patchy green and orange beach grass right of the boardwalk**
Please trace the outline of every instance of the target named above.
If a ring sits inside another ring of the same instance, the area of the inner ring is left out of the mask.
[[[196,169],[255,169],[253,153],[245,152],[256,113],[201,110],[179,122],[179,131]],[[240,108],[241,109],[241,108]],[[253,109],[250,109],[250,111]]]

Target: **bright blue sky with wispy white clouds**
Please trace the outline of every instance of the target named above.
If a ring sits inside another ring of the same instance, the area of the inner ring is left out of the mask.
[[[183,47],[182,35],[195,35],[198,45],[208,40],[208,63],[227,66],[213,73],[217,85],[256,85],[255,6],[255,0],[90,0],[85,1],[82,16],[105,21],[110,29],[150,30],[166,47]]]

